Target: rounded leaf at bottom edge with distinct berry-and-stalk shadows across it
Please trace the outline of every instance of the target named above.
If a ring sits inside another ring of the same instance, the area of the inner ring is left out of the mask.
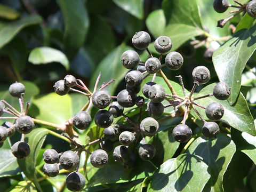
[[[201,157],[181,154],[157,169],[147,191],[202,191],[210,179],[207,168]]]

